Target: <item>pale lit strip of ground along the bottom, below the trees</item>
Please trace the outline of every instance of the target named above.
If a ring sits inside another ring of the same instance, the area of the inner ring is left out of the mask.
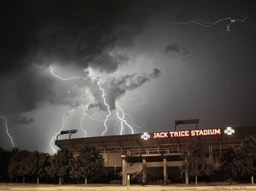
[[[79,185],[53,185],[53,184],[22,184],[22,183],[0,183],[0,191],[44,191],[44,190],[68,190],[68,191],[125,191],[128,190],[125,186],[112,186],[106,184],[91,184],[84,186],[82,184]],[[251,184],[234,184],[234,185],[224,185],[221,183],[216,183],[212,185],[206,185],[205,183],[199,184],[197,187],[191,184],[189,186],[183,184],[172,184],[172,185],[131,185],[130,190],[132,191],[189,191],[189,190],[206,190],[206,191],[216,191],[216,190],[256,190],[256,186]]]

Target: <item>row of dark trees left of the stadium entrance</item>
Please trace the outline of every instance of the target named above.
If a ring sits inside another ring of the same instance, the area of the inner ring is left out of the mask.
[[[59,184],[64,177],[72,179],[88,178],[94,180],[102,175],[104,160],[96,148],[84,148],[78,156],[73,156],[67,149],[59,150],[54,155],[49,153],[29,152],[14,148],[12,151],[0,148],[0,180],[9,178],[10,182],[26,182],[26,177],[37,179],[58,178]]]

